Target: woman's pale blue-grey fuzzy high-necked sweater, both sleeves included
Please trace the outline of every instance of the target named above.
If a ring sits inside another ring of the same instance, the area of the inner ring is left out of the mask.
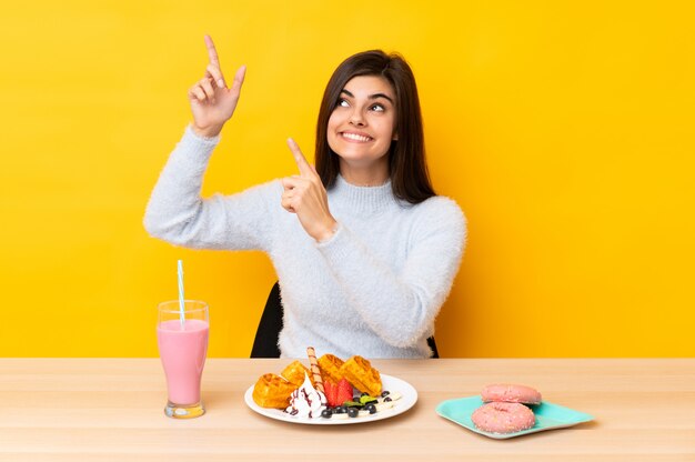
[[[459,205],[443,197],[412,205],[390,182],[364,188],[339,177],[328,191],[338,232],[316,243],[281,207],[279,180],[201,199],[218,142],[187,128],[150,198],[148,232],[189,248],[265,251],[282,292],[285,358],[303,358],[308,345],[344,359],[429,358],[465,247]]]

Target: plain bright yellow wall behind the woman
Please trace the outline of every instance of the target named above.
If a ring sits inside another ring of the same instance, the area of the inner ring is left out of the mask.
[[[444,355],[695,355],[691,2],[189,3],[2,8],[0,355],[157,355],[177,259],[211,305],[210,355],[248,355],[266,258],[177,249],[141,224],[204,33],[228,76],[249,68],[205,193],[293,173],[284,140],[311,155],[343,58],[410,60],[435,187],[470,220]]]

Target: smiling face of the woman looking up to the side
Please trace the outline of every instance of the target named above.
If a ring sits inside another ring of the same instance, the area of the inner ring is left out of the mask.
[[[329,145],[341,158],[341,170],[387,168],[391,142],[395,140],[395,92],[379,76],[352,78],[343,88],[329,118]]]

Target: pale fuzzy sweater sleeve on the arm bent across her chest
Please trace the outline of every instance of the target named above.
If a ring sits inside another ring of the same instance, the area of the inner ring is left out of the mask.
[[[343,225],[318,245],[364,322],[397,348],[432,334],[465,247],[466,220],[459,205],[442,197],[427,202],[411,230],[405,263],[395,271]]]

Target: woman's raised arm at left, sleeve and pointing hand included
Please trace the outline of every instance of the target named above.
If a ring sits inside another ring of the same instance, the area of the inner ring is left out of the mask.
[[[201,198],[208,162],[218,134],[234,113],[245,72],[242,66],[231,88],[226,88],[218,52],[208,36],[205,46],[210,61],[205,76],[188,92],[193,122],[160,174],[145,210],[144,227],[152,237],[183,247],[264,249],[271,220],[268,203],[280,197],[279,183],[233,195]]]

